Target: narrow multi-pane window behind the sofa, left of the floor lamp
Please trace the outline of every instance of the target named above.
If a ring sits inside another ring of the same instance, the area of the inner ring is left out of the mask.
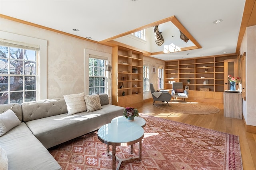
[[[105,93],[106,60],[89,58],[89,94]]]

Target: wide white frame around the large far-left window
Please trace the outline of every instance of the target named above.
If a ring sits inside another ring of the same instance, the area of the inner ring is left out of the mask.
[[[0,38],[39,46],[38,76],[36,77],[36,87],[38,90],[36,92],[36,99],[47,99],[47,41],[5,31],[0,31]]]

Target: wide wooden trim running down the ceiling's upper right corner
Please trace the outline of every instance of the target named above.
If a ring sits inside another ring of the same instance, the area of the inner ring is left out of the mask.
[[[244,38],[244,33],[246,30],[246,27],[248,27],[248,22],[250,20],[250,17],[253,18],[253,16],[251,16],[251,14],[252,14],[252,10],[254,8],[255,2],[256,2],[256,0],[246,0],[246,2],[245,2],[244,13],[243,13],[242,22],[241,22],[240,31],[239,31],[238,40],[237,40],[237,45],[236,45],[236,53],[239,53],[239,51],[240,51],[242,40]]]

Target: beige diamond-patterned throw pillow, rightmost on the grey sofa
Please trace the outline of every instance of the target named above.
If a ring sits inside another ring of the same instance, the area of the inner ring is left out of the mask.
[[[100,105],[100,97],[98,94],[87,95],[84,97],[84,100],[86,103],[87,112],[102,109],[102,107]]]

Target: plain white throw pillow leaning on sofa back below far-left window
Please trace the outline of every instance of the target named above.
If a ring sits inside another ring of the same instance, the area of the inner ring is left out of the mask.
[[[0,114],[0,136],[18,125],[20,120],[11,109]]]

